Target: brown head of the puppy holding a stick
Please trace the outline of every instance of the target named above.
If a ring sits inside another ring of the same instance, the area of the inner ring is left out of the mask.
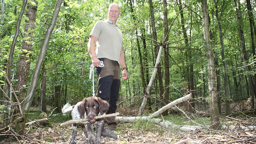
[[[80,109],[80,117],[83,117],[85,114],[91,123],[94,123],[96,120],[95,116],[108,111],[109,104],[107,101],[102,100],[100,97],[88,97],[84,98],[83,102],[78,106]]]

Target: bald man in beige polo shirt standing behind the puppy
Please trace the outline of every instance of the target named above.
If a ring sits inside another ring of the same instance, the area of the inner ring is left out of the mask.
[[[125,58],[123,53],[123,34],[117,27],[116,21],[121,14],[117,3],[111,3],[108,7],[108,19],[97,21],[94,25],[88,42],[88,51],[92,64],[97,71],[97,93],[96,96],[109,101],[109,114],[116,112],[116,102],[119,97],[120,88],[120,66],[123,69],[123,79],[128,78]],[[97,49],[95,51],[95,44]],[[97,52],[97,54],[96,54]],[[104,67],[100,66],[103,61]],[[114,117],[106,118],[102,130],[103,137],[117,138]]]

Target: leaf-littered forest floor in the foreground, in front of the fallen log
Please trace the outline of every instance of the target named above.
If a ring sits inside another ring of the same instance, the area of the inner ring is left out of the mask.
[[[104,138],[102,142],[106,144],[174,144],[187,140],[187,144],[224,144],[224,143],[256,143],[255,129],[242,129],[241,126],[252,125],[255,118],[248,116],[236,116],[238,120],[222,118],[222,125],[229,126],[228,130],[213,131],[209,129],[199,129],[195,132],[184,132],[178,129],[163,129],[161,126],[152,123],[120,123],[118,124],[117,139]],[[180,119],[180,118],[178,118]],[[177,119],[177,120],[178,120]],[[182,119],[180,119],[182,120]],[[241,121],[240,121],[241,120]],[[27,129],[28,130],[28,129]],[[71,141],[72,126],[61,126],[60,123],[52,123],[52,127],[43,128],[33,124],[29,134],[25,135],[22,144],[69,144]],[[248,140],[247,142],[245,140]],[[238,142],[240,140],[240,142]],[[235,142],[237,141],[237,142]],[[87,138],[81,128],[77,131],[77,144],[84,144]],[[1,141],[3,144],[16,144],[18,142]]]

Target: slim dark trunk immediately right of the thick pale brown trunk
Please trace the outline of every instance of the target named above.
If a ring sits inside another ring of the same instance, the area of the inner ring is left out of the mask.
[[[223,43],[223,38],[222,38],[222,28],[221,28],[221,23],[219,19],[219,12],[218,12],[218,4],[216,0],[214,0],[215,3],[215,16],[218,21],[218,26],[219,26],[219,36],[220,36],[220,44],[221,44],[221,58],[222,58],[222,63],[224,66],[224,91],[225,91],[225,98],[226,98],[226,115],[229,115],[230,110],[229,110],[229,96],[228,96],[228,69],[227,69],[227,63],[225,60],[224,56],[224,43]],[[223,4],[224,5],[224,4]]]

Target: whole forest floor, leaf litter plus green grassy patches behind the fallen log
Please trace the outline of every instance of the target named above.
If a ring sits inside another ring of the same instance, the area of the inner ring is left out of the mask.
[[[236,106],[237,107],[237,106]],[[198,108],[199,109],[199,108]],[[205,110],[205,107],[202,108]],[[202,110],[201,109],[201,110]],[[206,108],[207,109],[207,108]],[[236,111],[231,105],[231,110]],[[119,109],[119,112],[122,111]],[[120,112],[126,114],[126,112]],[[208,112],[205,112],[208,113]],[[131,113],[130,113],[131,114]],[[30,115],[30,119],[38,118],[39,113]],[[199,116],[201,115],[201,116]],[[209,116],[198,113],[190,114],[190,117],[200,124],[209,125]],[[186,144],[256,144],[256,118],[253,111],[236,111],[232,112],[229,117],[221,116],[221,125],[227,126],[225,130],[212,130],[208,126],[197,129],[194,132],[181,131],[178,128],[165,129],[152,122],[137,121],[135,123],[119,123],[117,131],[117,139],[102,137],[102,143],[105,144],[174,144],[177,142]],[[21,144],[69,144],[72,136],[72,125],[60,126],[60,123],[71,119],[71,114],[63,116],[57,114],[49,121],[51,126],[43,127],[38,124],[32,124],[26,128],[29,131],[22,140]],[[177,112],[171,112],[169,116],[164,117],[177,125],[194,125],[184,115]],[[254,128],[246,128],[254,126]],[[244,128],[244,129],[243,129]],[[14,138],[13,138],[14,139]],[[183,140],[186,140],[184,142]],[[0,144],[17,144],[19,142],[11,142],[10,140],[0,141]],[[77,144],[87,143],[82,128],[77,131]],[[181,144],[180,143],[180,144]]]

